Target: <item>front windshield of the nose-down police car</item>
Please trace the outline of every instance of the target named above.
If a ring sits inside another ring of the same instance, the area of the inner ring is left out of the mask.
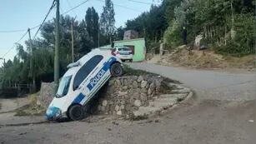
[[[67,95],[68,88],[70,85],[70,80],[71,80],[71,76],[63,77],[63,79],[59,83],[58,92],[56,94],[56,97],[64,97]]]

